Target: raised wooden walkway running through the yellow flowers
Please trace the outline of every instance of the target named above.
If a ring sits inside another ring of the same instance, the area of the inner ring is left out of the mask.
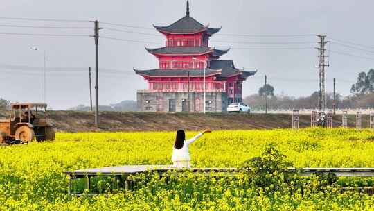
[[[79,178],[86,179],[85,189],[91,194],[91,178],[97,176],[105,177],[116,177],[124,178],[124,189],[129,188],[129,183],[126,180],[127,176],[137,173],[144,172],[157,172],[162,176],[167,171],[192,171],[192,172],[224,172],[227,174],[235,174],[238,172],[236,168],[190,168],[190,169],[180,169],[172,165],[132,165],[132,166],[121,166],[121,167],[103,167],[95,169],[80,169],[75,171],[64,171],[65,174],[69,175],[69,194],[80,195],[81,193],[73,192],[73,180]],[[300,171],[300,176],[311,176],[312,174],[334,174],[335,176],[348,176],[348,177],[374,177],[374,168],[301,168],[288,169],[290,172]]]

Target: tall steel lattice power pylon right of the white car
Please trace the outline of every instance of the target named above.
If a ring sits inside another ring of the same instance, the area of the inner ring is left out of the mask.
[[[318,95],[318,110],[321,112],[327,112],[327,101],[326,101],[326,71],[325,67],[328,67],[329,65],[326,65],[325,63],[325,51],[326,51],[326,44],[328,41],[325,41],[326,35],[317,35],[319,37],[319,47],[316,49],[319,51],[319,95]]]

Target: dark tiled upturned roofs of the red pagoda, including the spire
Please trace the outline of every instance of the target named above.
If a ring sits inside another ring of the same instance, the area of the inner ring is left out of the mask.
[[[210,28],[209,25],[203,25],[193,17],[190,17],[189,5],[187,2],[186,16],[179,19],[177,22],[170,24],[169,26],[154,26],[160,33],[166,35],[166,37],[178,37],[186,35],[202,35],[202,37],[211,37],[211,35],[219,32],[221,28]],[[215,49],[215,47],[208,47],[206,44],[195,44],[194,46],[175,46],[166,45],[166,47],[160,48],[147,48],[145,49],[152,53],[157,58],[166,58],[170,56],[190,56],[190,60],[196,56],[206,56],[206,77],[216,76],[217,80],[224,80],[225,78],[238,76],[245,80],[249,76],[256,74],[256,71],[243,71],[237,69],[233,60],[218,60],[220,56],[226,54],[229,49]],[[159,68],[149,70],[137,70],[134,69],[136,74],[139,74],[145,78],[162,78],[162,77],[185,77],[190,71],[190,77],[201,77],[203,76],[202,67],[190,67],[190,68]]]

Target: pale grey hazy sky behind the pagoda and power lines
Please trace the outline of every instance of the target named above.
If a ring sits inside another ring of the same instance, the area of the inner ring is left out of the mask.
[[[373,8],[374,1],[190,1],[192,17],[211,27],[222,26],[220,33],[211,38],[211,46],[231,47],[222,59],[234,60],[238,68],[258,69],[258,74],[244,83],[244,96],[258,91],[265,74],[269,83],[274,85],[276,94],[308,96],[317,90],[317,69],[314,67],[317,65],[317,49],[314,47],[317,47],[318,40],[314,34],[328,35],[327,40],[342,40],[332,42],[328,50],[327,88],[332,91],[332,78],[335,77],[337,92],[349,94],[357,73],[374,67]],[[157,59],[144,47],[161,47],[165,41],[162,36],[157,36],[159,33],[152,29],[152,24],[172,24],[185,12],[184,0],[2,0],[0,4],[0,17],[98,19],[102,22],[100,26],[104,27],[101,36],[123,39],[100,38],[100,105],[136,99],[136,89],[145,88],[146,83],[141,76],[134,74],[132,68],[157,67]],[[46,50],[47,56],[46,102],[54,109],[89,105],[88,67],[94,67],[95,51],[94,39],[88,35],[92,35],[93,26],[90,22],[0,19],[0,97],[10,101],[42,101],[43,51],[30,49],[39,47]],[[39,37],[1,33],[87,36]]]

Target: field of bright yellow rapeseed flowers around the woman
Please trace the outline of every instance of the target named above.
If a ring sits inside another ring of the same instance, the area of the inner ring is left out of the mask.
[[[187,133],[187,137],[196,132]],[[244,178],[188,174],[165,183],[150,176],[136,190],[67,196],[62,171],[130,164],[171,164],[175,133],[57,133],[54,142],[0,148],[0,210],[373,210],[359,192],[247,187]],[[240,167],[273,144],[295,167],[374,167],[373,130],[213,131],[190,145],[194,167]],[[141,178],[142,175],[139,175]],[[144,175],[143,175],[144,176]],[[139,179],[138,178],[138,179]],[[284,181],[282,182],[284,183]],[[373,185],[371,178],[366,185]]]

